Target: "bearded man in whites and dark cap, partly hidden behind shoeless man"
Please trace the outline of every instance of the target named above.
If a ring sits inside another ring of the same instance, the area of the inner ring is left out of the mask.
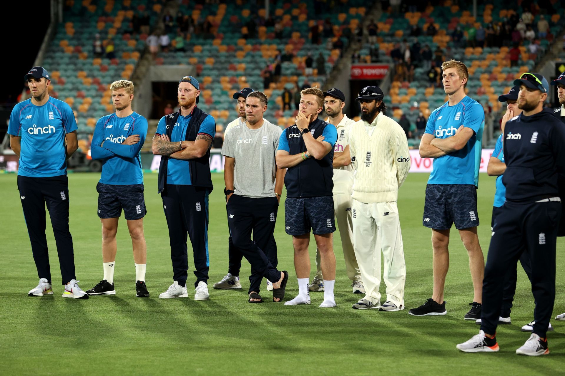
[[[344,251],[345,269],[347,277],[351,280],[354,294],[364,294],[365,288],[361,278],[361,272],[355,259],[353,249],[353,216],[351,207],[351,187],[353,186],[353,165],[340,164],[338,158],[347,146],[345,136],[347,129],[355,121],[343,113],[345,107],[344,93],[334,87],[324,92],[324,109],[328,114],[325,120],[333,124],[337,129],[337,143],[333,148],[333,211],[336,215],[337,227],[340,229],[341,247]],[[321,273],[320,252],[316,249],[316,277],[310,283],[310,291],[324,291],[324,277]]]

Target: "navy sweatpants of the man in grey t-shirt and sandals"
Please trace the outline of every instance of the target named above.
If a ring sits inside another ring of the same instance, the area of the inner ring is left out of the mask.
[[[278,209],[276,197],[249,198],[232,194],[229,198],[228,225],[233,247],[251,264],[249,292],[259,293],[263,277],[271,282],[278,282],[281,277],[276,269],[276,246],[270,246],[274,241]]]

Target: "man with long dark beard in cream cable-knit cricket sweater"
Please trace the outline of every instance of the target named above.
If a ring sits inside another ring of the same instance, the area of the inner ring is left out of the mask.
[[[355,309],[404,309],[406,266],[398,188],[410,170],[408,141],[402,127],[384,112],[383,91],[367,86],[359,93],[361,120],[346,132],[349,146],[339,162],[353,162],[353,245],[365,286]],[[386,301],[381,305],[381,251]]]

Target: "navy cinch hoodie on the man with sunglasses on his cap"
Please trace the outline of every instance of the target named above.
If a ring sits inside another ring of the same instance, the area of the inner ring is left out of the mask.
[[[565,174],[565,127],[553,110],[520,114],[504,130],[506,200],[527,203],[559,196]]]

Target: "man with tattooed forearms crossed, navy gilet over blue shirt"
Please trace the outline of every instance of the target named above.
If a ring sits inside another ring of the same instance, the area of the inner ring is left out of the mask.
[[[159,298],[185,298],[188,277],[187,235],[194,255],[194,300],[208,295],[208,194],[212,191],[210,147],[216,133],[212,116],[196,104],[200,95],[198,80],[192,76],[179,81],[179,112],[163,116],[151,144],[159,154],[158,192],[169,228],[173,284]]]

